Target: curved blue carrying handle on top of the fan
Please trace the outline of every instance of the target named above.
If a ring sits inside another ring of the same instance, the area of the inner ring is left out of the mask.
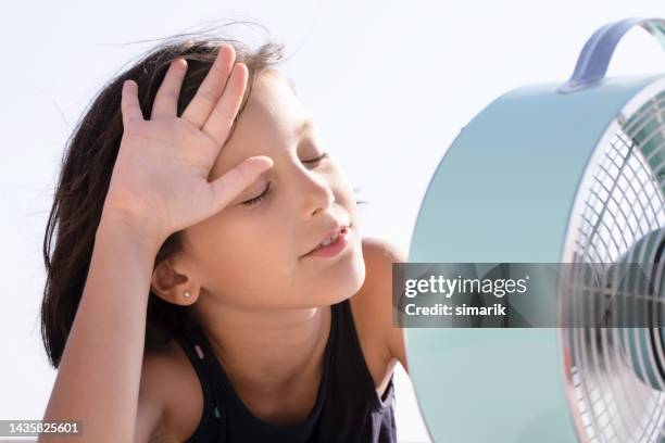
[[[559,92],[575,92],[602,81],[616,46],[633,26],[647,29],[665,49],[665,20],[663,18],[626,18],[610,23],[593,33],[587,40],[577,59],[573,76],[559,87]]]

